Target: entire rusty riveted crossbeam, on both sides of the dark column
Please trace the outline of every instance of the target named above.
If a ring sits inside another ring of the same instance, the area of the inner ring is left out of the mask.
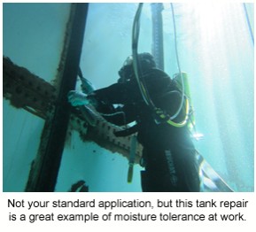
[[[30,73],[26,68],[16,66],[9,58],[3,58],[3,92],[4,97],[10,100],[12,106],[24,108],[43,119],[50,112],[50,107],[56,102],[56,89],[49,82]],[[118,152],[124,157],[129,157],[130,136],[116,137],[114,131],[123,128],[112,125],[106,121],[97,111],[89,106],[90,111],[74,109],[70,118],[70,128],[78,131],[81,139],[93,141],[108,151]],[[91,126],[86,113],[96,121]],[[142,155],[142,146],[137,144],[136,163]]]

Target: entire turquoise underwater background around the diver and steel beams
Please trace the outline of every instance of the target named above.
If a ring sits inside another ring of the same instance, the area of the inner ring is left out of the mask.
[[[96,89],[118,79],[131,51],[138,4],[89,4],[81,72]],[[188,73],[198,133],[195,145],[235,191],[254,191],[254,5],[241,3],[164,4],[165,71]],[[3,4],[3,52],[18,66],[52,82],[71,4]],[[151,4],[144,4],[138,51],[151,52]],[[77,81],[77,89],[81,83]],[[131,93],[132,94],[132,93]],[[24,191],[44,120],[3,100],[3,190]],[[89,191],[141,191],[135,166],[127,182],[128,159],[72,131],[58,172],[56,191],[84,180]]]

